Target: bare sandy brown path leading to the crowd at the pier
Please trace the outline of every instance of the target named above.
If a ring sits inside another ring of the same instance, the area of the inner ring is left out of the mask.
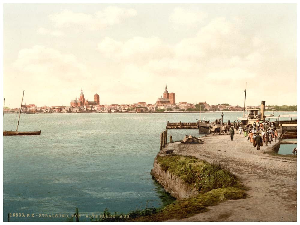
[[[263,154],[271,150],[274,141],[257,151],[239,134],[233,141],[229,135],[209,135],[202,140],[205,144],[168,144],[165,150],[220,162],[249,188],[248,197],[227,200],[180,221],[297,221],[297,158]]]

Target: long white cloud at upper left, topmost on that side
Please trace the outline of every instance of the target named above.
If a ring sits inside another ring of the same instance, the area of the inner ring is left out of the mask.
[[[61,13],[49,15],[58,28],[89,29],[92,31],[104,29],[120,23],[123,19],[134,17],[137,11],[116,6],[109,6],[94,14],[75,13],[64,10]]]

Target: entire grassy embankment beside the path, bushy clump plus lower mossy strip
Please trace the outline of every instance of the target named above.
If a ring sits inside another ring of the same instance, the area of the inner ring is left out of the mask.
[[[193,156],[158,156],[161,168],[179,177],[191,188],[200,193],[197,196],[176,200],[162,209],[136,210],[129,213],[130,218],[109,221],[165,221],[172,218],[182,219],[207,211],[209,205],[217,205],[226,199],[246,197],[246,188],[228,169],[220,164],[210,164]],[[107,220],[101,220],[107,221]]]

